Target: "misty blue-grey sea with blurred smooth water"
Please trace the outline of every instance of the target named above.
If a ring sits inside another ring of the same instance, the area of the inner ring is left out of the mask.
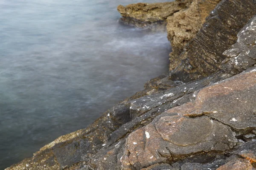
[[[0,0],[0,170],[168,71],[166,33],[117,22],[137,2]]]

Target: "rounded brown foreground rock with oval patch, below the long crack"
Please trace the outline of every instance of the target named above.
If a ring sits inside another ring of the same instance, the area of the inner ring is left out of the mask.
[[[157,121],[128,136],[125,145],[128,154],[123,158],[128,157],[129,161],[121,162],[126,168],[134,166],[140,169],[193,153],[224,151],[233,147],[235,142],[229,127],[207,116],[160,116]]]

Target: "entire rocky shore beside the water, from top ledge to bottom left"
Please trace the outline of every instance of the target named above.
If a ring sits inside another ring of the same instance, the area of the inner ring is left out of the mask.
[[[170,71],[6,170],[256,169],[256,2],[118,10],[137,27],[167,23]]]

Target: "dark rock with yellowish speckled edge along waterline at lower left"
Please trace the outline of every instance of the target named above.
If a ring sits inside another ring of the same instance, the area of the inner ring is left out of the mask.
[[[42,147],[32,158],[24,159],[6,170],[76,170],[83,167],[105,146],[108,136],[118,125],[130,119],[126,107],[125,102],[116,105],[87,128],[59,137]],[[122,119],[119,119],[120,115],[123,115]]]

